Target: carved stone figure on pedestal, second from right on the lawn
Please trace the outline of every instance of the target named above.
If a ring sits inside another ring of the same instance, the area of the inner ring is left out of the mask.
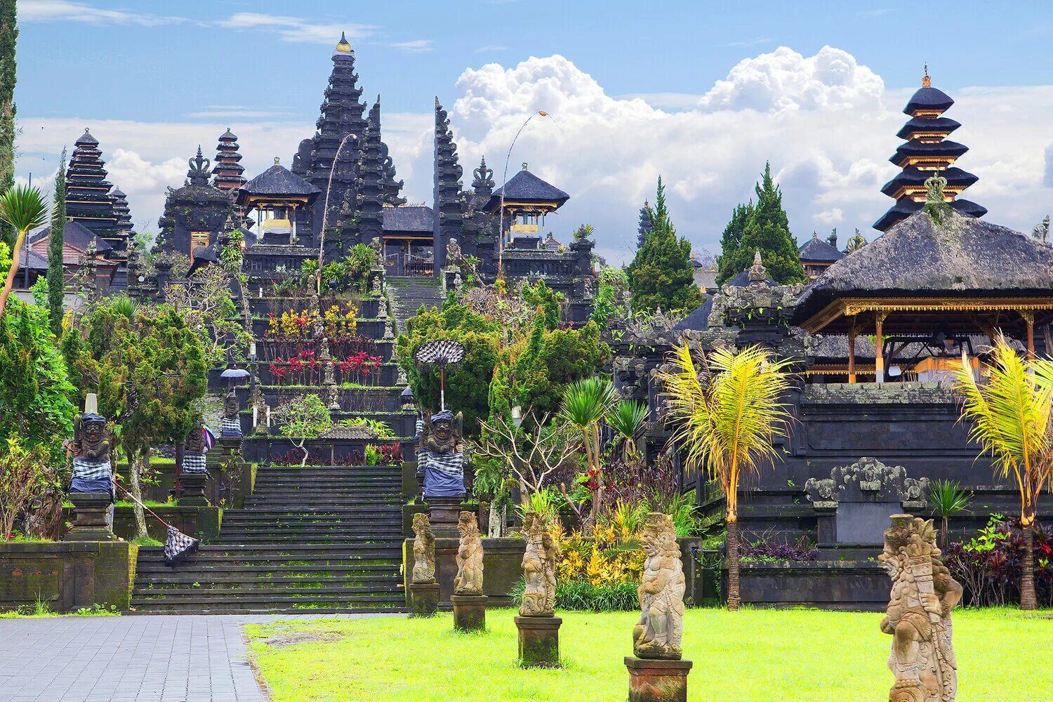
[[[641,613],[633,628],[633,654],[637,658],[678,661],[683,653],[680,640],[686,583],[673,518],[649,513],[642,542],[647,560],[636,590]]]

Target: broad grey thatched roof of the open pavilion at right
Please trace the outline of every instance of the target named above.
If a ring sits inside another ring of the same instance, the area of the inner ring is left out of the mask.
[[[801,296],[794,323],[839,298],[1053,298],[1053,247],[949,208],[921,209],[837,261]]]

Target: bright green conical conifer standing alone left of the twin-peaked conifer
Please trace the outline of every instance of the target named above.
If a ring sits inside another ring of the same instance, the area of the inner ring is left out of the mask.
[[[691,244],[677,239],[665,206],[665,186],[658,178],[655,206],[648,209],[652,230],[629,266],[633,312],[690,310],[701,304],[691,265]]]

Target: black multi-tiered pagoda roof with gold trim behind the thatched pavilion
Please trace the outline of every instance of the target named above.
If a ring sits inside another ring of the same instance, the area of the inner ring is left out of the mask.
[[[987,214],[986,207],[957,197],[978,179],[954,165],[969,147],[947,138],[961,126],[955,120],[942,116],[953,104],[954,100],[950,96],[932,86],[927,68],[921,87],[911,96],[903,108],[903,113],[910,115],[911,119],[896,135],[907,141],[889,159],[902,168],[902,172],[881,188],[896,204],[874,222],[874,228],[887,232],[896,222],[920,209],[926,198],[925,181],[937,171],[947,179],[943,195],[954,209],[973,217]]]

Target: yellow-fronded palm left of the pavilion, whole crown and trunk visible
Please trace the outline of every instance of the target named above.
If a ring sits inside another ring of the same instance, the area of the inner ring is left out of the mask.
[[[704,468],[720,481],[728,522],[728,608],[738,609],[738,488],[743,474],[774,465],[773,442],[787,434],[790,414],[781,401],[790,388],[789,361],[760,346],[735,353],[716,348],[695,356],[674,346],[673,369],[658,374],[667,398],[671,441],[684,452],[689,470]]]

